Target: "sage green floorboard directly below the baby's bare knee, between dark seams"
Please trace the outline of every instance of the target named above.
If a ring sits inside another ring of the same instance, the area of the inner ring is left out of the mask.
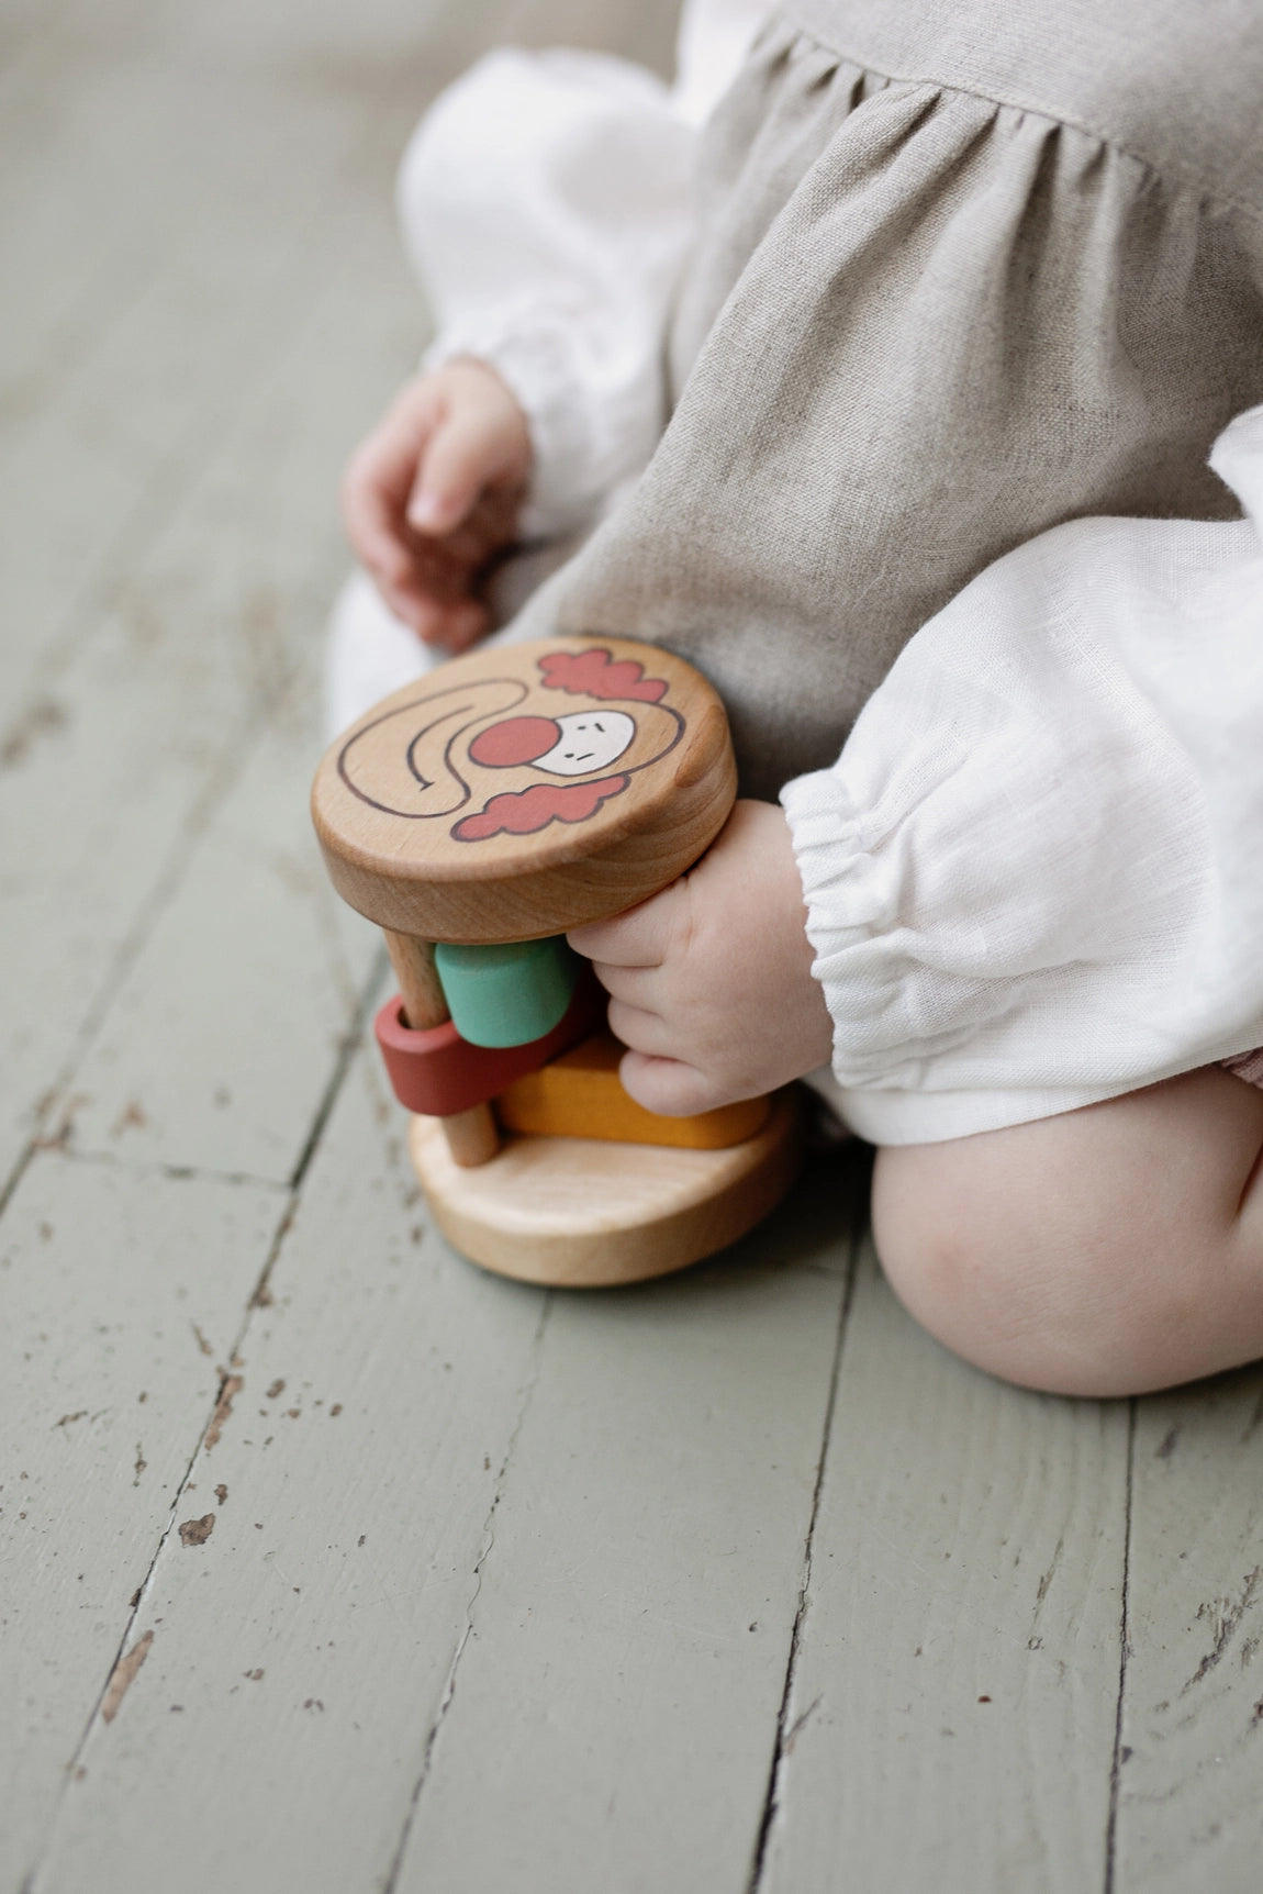
[[[1104,1885],[1125,1504],[1125,1403],[975,1373],[867,1254],[763,1894]]]

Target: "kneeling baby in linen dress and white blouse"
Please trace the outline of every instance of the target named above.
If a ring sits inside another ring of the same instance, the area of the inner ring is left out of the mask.
[[[737,61],[691,8],[674,95],[498,55],[405,165],[443,330],[345,483],[417,667],[526,508],[591,536],[509,636],[720,686],[756,794],[572,936],[627,1089],[831,1061],[907,1307],[1072,1394],[1263,1352],[1263,417],[1206,468],[1263,400],[1263,49],[1129,13],[799,0]]]

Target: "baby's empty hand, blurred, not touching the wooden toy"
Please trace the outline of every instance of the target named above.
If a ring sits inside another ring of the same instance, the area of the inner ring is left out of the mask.
[[[530,474],[526,417],[485,362],[405,383],[343,477],[343,519],[382,599],[422,644],[487,631],[483,580],[511,545]]]

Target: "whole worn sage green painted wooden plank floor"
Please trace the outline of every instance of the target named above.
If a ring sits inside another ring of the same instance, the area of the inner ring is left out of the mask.
[[[668,4],[9,0],[0,1894],[1263,1885],[1263,1373],[971,1373],[854,1157],[685,1277],[432,1233],[307,831],[390,167]]]

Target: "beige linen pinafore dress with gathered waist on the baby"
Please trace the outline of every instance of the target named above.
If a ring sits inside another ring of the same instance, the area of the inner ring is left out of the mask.
[[[513,636],[689,657],[746,794],[831,763],[1047,527],[1238,517],[1206,455],[1263,402],[1254,0],[793,0],[701,199],[667,432]]]

